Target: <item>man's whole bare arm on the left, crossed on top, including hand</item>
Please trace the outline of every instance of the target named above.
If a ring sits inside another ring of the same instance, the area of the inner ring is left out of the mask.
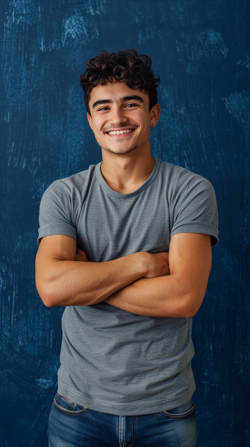
[[[36,285],[46,306],[96,304],[139,278],[169,274],[168,253],[140,252],[107,262],[87,261],[72,237],[42,238],[36,257]]]

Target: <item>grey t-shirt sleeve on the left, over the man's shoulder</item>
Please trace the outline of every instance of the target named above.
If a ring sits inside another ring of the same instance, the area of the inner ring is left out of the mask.
[[[54,181],[42,196],[39,213],[37,242],[42,237],[61,234],[76,240],[76,229],[72,219],[71,202],[63,183]]]

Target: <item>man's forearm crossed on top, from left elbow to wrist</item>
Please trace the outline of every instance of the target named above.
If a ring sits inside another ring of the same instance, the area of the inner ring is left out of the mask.
[[[37,274],[38,293],[49,307],[99,303],[146,274],[138,255],[135,253],[108,262],[54,259],[42,270],[42,278]]]

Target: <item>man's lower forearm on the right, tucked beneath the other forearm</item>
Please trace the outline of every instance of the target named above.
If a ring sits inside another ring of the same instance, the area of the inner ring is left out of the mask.
[[[136,315],[189,318],[199,310],[204,287],[192,291],[175,275],[142,278],[116,291],[105,302]]]

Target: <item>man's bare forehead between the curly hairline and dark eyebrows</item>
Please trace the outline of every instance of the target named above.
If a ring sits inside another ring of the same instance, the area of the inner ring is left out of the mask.
[[[114,102],[121,101],[122,97],[138,95],[142,97],[147,105],[148,95],[145,91],[130,89],[124,82],[114,82],[105,85],[97,85],[90,93],[89,105],[102,99],[111,99]]]

